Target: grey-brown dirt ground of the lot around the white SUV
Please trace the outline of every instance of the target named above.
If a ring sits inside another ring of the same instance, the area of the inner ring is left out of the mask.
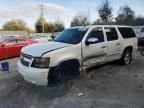
[[[0,71],[0,108],[144,108],[144,56],[136,53],[129,66],[108,63],[58,88],[37,87],[16,71]],[[82,96],[78,96],[83,93]]]

